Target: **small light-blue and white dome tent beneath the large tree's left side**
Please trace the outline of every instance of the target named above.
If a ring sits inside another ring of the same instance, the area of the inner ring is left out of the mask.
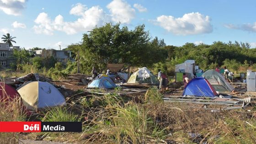
[[[117,87],[113,80],[105,74],[96,76],[96,78],[87,86],[87,88],[109,89]]]

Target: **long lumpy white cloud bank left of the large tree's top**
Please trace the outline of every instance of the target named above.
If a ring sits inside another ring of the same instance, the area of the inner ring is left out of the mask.
[[[89,31],[95,26],[102,26],[110,20],[109,16],[99,6],[93,6],[90,9],[81,8],[80,6],[80,4],[76,4],[70,11],[70,14],[81,16],[76,21],[64,21],[61,15],[56,16],[52,20],[47,13],[40,13],[35,20],[37,25],[34,25],[34,31],[47,35],[53,35],[55,30],[67,34],[75,34],[77,32]]]

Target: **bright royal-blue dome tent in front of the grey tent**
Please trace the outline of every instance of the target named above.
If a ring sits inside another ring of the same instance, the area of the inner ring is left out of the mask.
[[[185,95],[215,97],[218,94],[208,80],[202,77],[196,77],[190,80],[184,87],[183,96]]]

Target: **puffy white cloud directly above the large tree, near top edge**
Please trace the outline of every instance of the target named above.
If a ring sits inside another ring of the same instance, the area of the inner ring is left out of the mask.
[[[129,24],[135,17],[135,10],[124,0],[113,0],[107,5],[112,21]]]

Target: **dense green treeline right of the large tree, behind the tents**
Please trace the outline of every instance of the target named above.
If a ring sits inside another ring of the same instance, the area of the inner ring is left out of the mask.
[[[225,65],[225,59],[231,59],[230,62],[226,61],[226,64],[230,65],[229,69],[237,71],[238,65],[244,63],[245,60],[256,63],[256,55],[253,54],[256,53],[256,48],[247,47],[249,47],[248,44],[245,44],[245,48],[243,48],[239,43],[232,42],[213,42],[212,45],[200,44],[197,46],[193,43],[186,43],[181,47],[166,46],[169,51],[167,62],[177,58],[180,61],[178,64],[181,64],[187,59],[194,59],[201,69],[206,70],[212,69],[213,66],[215,68],[217,65]],[[236,62],[237,64],[231,64]]]

